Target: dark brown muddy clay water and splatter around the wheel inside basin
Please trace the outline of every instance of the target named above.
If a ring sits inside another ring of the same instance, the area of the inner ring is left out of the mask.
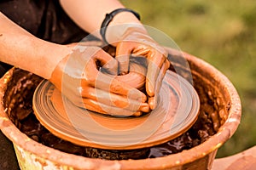
[[[196,145],[202,144],[213,134],[218,132],[218,127],[227,118],[224,115],[226,108],[218,91],[213,91],[211,83],[204,82],[201,78],[193,75],[195,90],[200,96],[200,115],[187,132],[176,139],[165,144],[155,145],[150,148],[139,150],[102,150],[91,147],[79,146],[66,140],[57,138],[38,122],[32,110],[32,95],[39,82],[40,77],[32,73],[15,68],[13,76],[9,80],[8,88],[3,98],[4,107],[9,118],[15,126],[25,133],[29,138],[56,150],[71,153],[78,156],[102,158],[107,160],[144,159],[160,156],[168,156],[189,150]]]

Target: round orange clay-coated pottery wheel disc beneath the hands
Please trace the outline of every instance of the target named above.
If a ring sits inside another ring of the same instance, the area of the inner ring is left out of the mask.
[[[162,144],[191,127],[199,113],[195,89],[172,71],[166,72],[154,111],[138,117],[104,116],[79,108],[44,80],[36,89],[33,109],[51,133],[74,144],[132,150]]]

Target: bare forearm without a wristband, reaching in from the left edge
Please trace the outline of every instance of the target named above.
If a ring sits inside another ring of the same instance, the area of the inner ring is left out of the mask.
[[[49,79],[70,49],[32,36],[0,13],[0,60]]]

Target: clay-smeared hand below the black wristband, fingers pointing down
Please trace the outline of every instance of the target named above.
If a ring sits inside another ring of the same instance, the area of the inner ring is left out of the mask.
[[[161,82],[170,66],[166,50],[149,37],[145,30],[130,28],[117,43],[116,59],[119,61],[120,71],[128,71],[130,55],[147,58],[146,92],[148,104],[154,110]]]

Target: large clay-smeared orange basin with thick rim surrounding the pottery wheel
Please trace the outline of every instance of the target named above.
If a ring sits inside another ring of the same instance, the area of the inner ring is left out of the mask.
[[[178,68],[179,74],[186,77],[189,72],[175,50],[168,49],[172,66]],[[15,113],[4,106],[4,95],[10,86],[14,69],[9,71],[0,82],[0,127],[3,133],[13,142],[21,169],[211,169],[212,161],[218,148],[235,133],[241,118],[241,101],[236,89],[224,75],[212,65],[190,54],[183,54],[189,62],[195,89],[200,91],[201,100],[211,98],[217,108],[217,120],[214,128],[218,131],[202,144],[180,153],[158,158],[141,160],[107,161],[67,154],[39,144],[21,133],[15,126]],[[30,81],[30,83],[35,83]],[[213,95],[214,94],[214,95]],[[212,97],[213,96],[213,97]],[[12,105],[15,105],[15,100]],[[11,121],[13,120],[13,121]]]

